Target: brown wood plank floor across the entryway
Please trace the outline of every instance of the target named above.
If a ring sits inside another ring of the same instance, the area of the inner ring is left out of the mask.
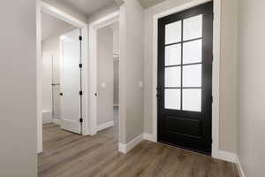
[[[113,132],[80,136],[44,125],[39,176],[239,177],[234,164],[161,143],[143,141],[124,155]]]

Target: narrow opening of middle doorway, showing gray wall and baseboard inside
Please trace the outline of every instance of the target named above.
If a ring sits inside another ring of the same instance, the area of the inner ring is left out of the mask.
[[[96,32],[96,132],[110,130],[118,142],[119,24],[113,21]]]

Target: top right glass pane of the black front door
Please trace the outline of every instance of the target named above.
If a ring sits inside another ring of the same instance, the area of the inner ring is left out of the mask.
[[[183,40],[191,40],[202,36],[202,15],[183,20]]]

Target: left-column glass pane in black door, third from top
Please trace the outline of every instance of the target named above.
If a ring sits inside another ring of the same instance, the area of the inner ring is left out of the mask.
[[[164,75],[166,88],[178,88],[181,86],[181,69],[180,66],[166,67]]]

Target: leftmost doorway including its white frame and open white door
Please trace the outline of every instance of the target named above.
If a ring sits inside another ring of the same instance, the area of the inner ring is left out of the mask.
[[[38,152],[43,127],[88,135],[87,24],[42,2],[38,25]]]

